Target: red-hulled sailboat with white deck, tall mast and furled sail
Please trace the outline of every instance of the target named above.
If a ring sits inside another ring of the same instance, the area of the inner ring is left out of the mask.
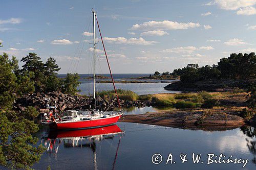
[[[49,113],[44,114],[44,117],[41,119],[41,123],[49,125],[50,129],[56,129],[56,130],[71,129],[72,130],[72,129],[90,129],[90,128],[99,128],[103,126],[110,126],[115,124],[123,114],[123,110],[121,109],[121,106],[120,106],[117,90],[116,90],[114,79],[112,76],[108,56],[106,55],[106,50],[103,43],[100,27],[99,27],[99,22],[94,10],[92,11],[92,13],[93,13],[93,52],[94,52],[93,53],[93,61],[94,61],[93,98],[94,98],[94,101],[96,101],[96,60],[95,60],[96,58],[95,21],[96,21],[120,110],[118,111],[99,111],[99,109],[93,109],[92,111],[67,110],[63,112],[63,116],[59,116],[55,106],[47,106]]]

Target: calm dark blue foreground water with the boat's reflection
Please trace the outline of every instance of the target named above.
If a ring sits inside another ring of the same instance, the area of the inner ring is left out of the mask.
[[[209,153],[248,159],[244,169],[256,167],[252,162],[256,139],[244,134],[240,128],[212,132],[133,123],[117,123],[117,126],[90,132],[69,131],[54,134],[52,139],[42,138],[48,151],[34,168],[46,169],[51,165],[52,169],[242,169],[242,164],[207,165]],[[114,134],[109,134],[113,131]],[[248,129],[243,131],[252,134]],[[39,137],[43,136],[44,132],[41,132]],[[158,165],[151,161],[155,153],[163,157]],[[165,164],[169,153],[173,154],[175,164]],[[181,153],[187,154],[187,162],[181,163]],[[200,161],[204,163],[193,164],[192,153],[202,154]]]

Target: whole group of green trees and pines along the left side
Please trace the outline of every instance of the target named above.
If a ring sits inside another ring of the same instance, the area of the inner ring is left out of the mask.
[[[0,43],[0,46],[1,43]],[[61,90],[76,92],[78,75],[68,75],[63,81],[57,77],[59,71],[55,59],[49,58],[44,64],[35,53],[29,53],[21,61],[8,54],[0,55],[0,165],[11,169],[30,169],[40,160],[45,151],[37,145],[38,139],[32,134],[38,131],[33,119],[39,114],[35,108],[14,111],[13,103],[25,93]]]

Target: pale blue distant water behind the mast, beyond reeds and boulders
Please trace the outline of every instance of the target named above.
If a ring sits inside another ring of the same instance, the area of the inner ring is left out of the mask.
[[[150,74],[113,74],[115,81],[128,80],[127,78],[137,78],[142,76],[149,76]],[[92,94],[93,93],[93,80],[83,79],[93,75],[80,75],[80,86],[81,94]],[[103,74],[102,76],[110,77],[109,74]],[[65,75],[58,75],[58,77],[65,77]],[[111,79],[98,79],[98,80],[111,80]],[[155,93],[179,93],[181,91],[170,91],[164,90],[163,87],[167,86],[174,80],[141,80],[141,81],[151,81],[156,83],[115,83],[116,88],[132,90],[140,94],[155,94]],[[170,83],[160,83],[161,81],[167,81]],[[96,90],[113,90],[112,83],[96,83]]]

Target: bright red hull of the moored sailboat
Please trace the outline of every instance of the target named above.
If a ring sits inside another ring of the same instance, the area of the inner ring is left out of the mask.
[[[86,128],[97,128],[102,126],[108,126],[111,124],[115,124],[121,115],[106,117],[106,118],[98,118],[93,120],[81,120],[78,122],[58,122],[49,124],[50,129],[86,129]]]

